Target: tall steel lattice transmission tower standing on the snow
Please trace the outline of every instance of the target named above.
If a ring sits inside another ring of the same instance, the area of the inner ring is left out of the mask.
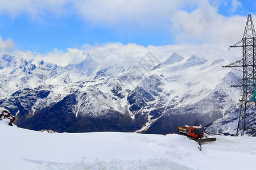
[[[230,46],[242,47],[243,56],[239,61],[230,63],[223,67],[242,67],[243,78],[231,87],[243,87],[243,95],[240,100],[240,116],[238,120],[236,135],[256,134],[256,76],[255,76],[255,55],[256,55],[256,34],[253,19],[249,14],[245,25],[245,32],[242,40]],[[236,69],[236,68],[233,68]],[[237,70],[237,69],[236,69]],[[241,70],[240,70],[241,71]]]

